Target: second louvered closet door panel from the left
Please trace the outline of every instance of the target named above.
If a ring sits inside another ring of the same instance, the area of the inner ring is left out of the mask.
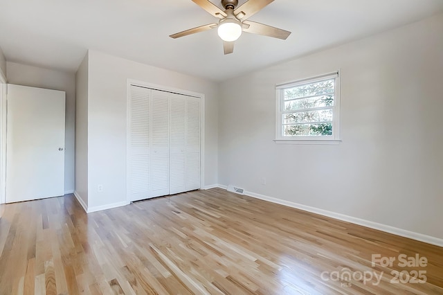
[[[169,195],[169,93],[152,90],[151,197]]]

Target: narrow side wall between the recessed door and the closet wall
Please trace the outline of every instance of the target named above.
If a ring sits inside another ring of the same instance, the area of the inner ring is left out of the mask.
[[[88,54],[75,73],[75,192],[88,206]]]

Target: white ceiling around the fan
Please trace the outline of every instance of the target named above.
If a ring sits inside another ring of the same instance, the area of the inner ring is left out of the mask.
[[[216,30],[168,37],[217,22],[191,0],[0,0],[0,47],[6,60],[51,69],[76,71],[91,48],[221,81],[440,12],[442,0],[275,0],[251,20],[289,38],[244,33],[224,55]]]

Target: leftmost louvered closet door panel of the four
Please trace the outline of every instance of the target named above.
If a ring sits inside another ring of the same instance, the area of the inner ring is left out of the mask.
[[[150,197],[151,89],[131,85],[128,101],[128,195],[129,201]]]

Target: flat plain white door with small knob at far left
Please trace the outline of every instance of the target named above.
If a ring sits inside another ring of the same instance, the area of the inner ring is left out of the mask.
[[[7,203],[64,195],[65,97],[8,84]]]

